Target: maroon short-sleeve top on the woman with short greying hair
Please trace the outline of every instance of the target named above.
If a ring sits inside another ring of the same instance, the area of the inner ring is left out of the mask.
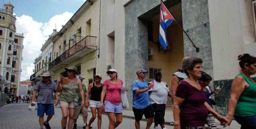
[[[202,82],[199,82],[199,84],[202,87],[201,90],[198,90],[186,81],[181,81],[177,87],[175,95],[185,99],[180,105],[180,125],[183,128],[204,126],[206,123],[208,115],[208,110],[204,105],[206,97]]]

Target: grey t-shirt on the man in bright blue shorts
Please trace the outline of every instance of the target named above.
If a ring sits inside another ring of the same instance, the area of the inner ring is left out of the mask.
[[[35,89],[38,91],[37,103],[39,104],[54,104],[53,93],[57,91],[56,84],[53,81],[50,81],[48,84],[43,81],[39,81]]]

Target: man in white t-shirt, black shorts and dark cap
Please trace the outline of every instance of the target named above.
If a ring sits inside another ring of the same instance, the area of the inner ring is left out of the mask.
[[[161,81],[161,72],[156,73],[155,76],[156,79],[151,81],[151,83],[154,83],[154,86],[148,90],[149,102],[152,104],[155,111],[154,129],[158,129],[158,124],[160,124],[162,129],[167,129],[164,126],[165,104],[167,103],[167,96],[171,97],[171,94],[167,83]]]

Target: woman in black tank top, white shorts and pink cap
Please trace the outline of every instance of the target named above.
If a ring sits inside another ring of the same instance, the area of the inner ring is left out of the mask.
[[[85,106],[90,106],[92,117],[89,121],[89,124],[86,129],[89,129],[93,121],[96,119],[96,110],[98,113],[98,129],[101,128],[101,114],[102,109],[100,108],[100,95],[102,92],[103,85],[100,83],[102,76],[100,74],[95,75],[95,82],[89,84],[88,91],[86,93],[86,103]],[[91,97],[89,99],[89,94],[91,94]]]

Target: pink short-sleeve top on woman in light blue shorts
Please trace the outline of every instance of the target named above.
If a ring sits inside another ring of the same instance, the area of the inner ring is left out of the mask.
[[[107,95],[105,100],[114,104],[122,103],[121,90],[123,81],[121,79],[118,79],[118,81],[118,84],[113,84],[107,79],[103,83],[103,85],[107,86]]]

